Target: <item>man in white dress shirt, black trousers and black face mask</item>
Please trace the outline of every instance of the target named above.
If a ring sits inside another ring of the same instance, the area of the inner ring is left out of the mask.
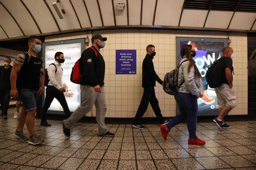
[[[70,116],[70,110],[64,96],[65,89],[62,87],[63,70],[61,67],[61,63],[65,62],[65,58],[62,52],[55,53],[54,58],[55,62],[50,64],[47,68],[47,73],[50,81],[48,83],[48,86],[46,87],[45,104],[42,108],[40,124],[41,126],[51,126],[51,124],[46,121],[46,112],[54,98],[59,101],[65,114],[68,117]]]

